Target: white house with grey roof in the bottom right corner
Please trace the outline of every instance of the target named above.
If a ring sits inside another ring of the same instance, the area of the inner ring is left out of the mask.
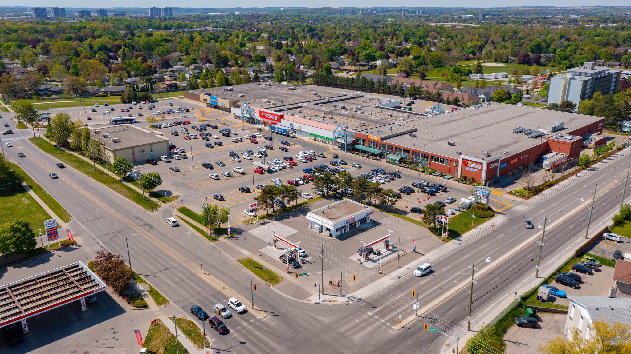
[[[627,263],[622,261],[623,263]],[[563,333],[571,338],[573,330],[586,340],[594,336],[593,321],[631,324],[631,298],[569,295],[570,308]]]

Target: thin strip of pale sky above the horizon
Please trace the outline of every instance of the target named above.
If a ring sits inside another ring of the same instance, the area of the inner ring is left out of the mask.
[[[333,0],[324,0],[324,1],[319,1],[317,3],[317,6],[307,6],[305,4],[297,4],[295,1],[291,1],[291,0],[274,0],[274,1],[269,1],[268,3],[264,3],[262,4],[260,1],[256,1],[256,0],[244,0],[244,1],[235,1],[230,4],[230,8],[240,8],[240,7],[244,7],[244,8],[263,8],[263,7],[283,7],[283,6],[287,6],[287,7],[309,7],[309,8],[322,8],[322,7],[331,7],[331,8],[338,8],[340,7],[340,3],[339,1],[333,1]],[[449,5],[451,6],[428,6],[428,8],[449,8],[449,7],[454,7],[454,8],[462,8],[462,7],[469,7],[471,6],[471,1],[464,1],[464,0],[454,0],[451,3],[449,3]],[[187,1],[186,4],[178,4],[178,5],[186,5],[186,8],[225,8],[224,6],[227,5],[227,3],[225,2],[208,2],[208,1],[202,1],[202,0],[192,0],[192,1]],[[416,5],[416,6],[415,6]],[[397,7],[397,6],[406,6],[406,7],[425,7],[423,5],[427,5],[427,4],[410,4],[409,1],[395,1],[394,3],[387,3],[386,7]],[[507,5],[507,3],[505,1],[500,1],[500,0],[490,0],[487,1],[485,3],[484,7],[471,7],[471,8],[501,8],[501,7],[505,7]],[[526,4],[522,4],[523,6],[529,6],[529,7],[536,7],[536,6],[571,6],[571,7],[576,7],[576,6],[595,6],[595,5],[599,5],[599,6],[628,6],[629,3],[628,1],[625,0],[603,0],[600,1],[598,4],[595,4],[594,1],[587,1],[587,0],[557,0],[557,1],[546,1],[546,0],[535,0],[535,1],[528,1],[528,3]],[[52,8],[52,7],[60,7],[60,8],[85,8],[86,7],[86,3],[85,1],[80,1],[80,0],[68,0],[68,1],[45,1],[45,0],[36,0],[36,1],[31,1],[30,3],[28,3],[29,7],[45,7],[45,8]],[[151,2],[151,6],[152,7],[157,7],[157,8],[165,8],[165,7],[174,7],[174,4],[172,1],[168,1],[168,0],[156,0]],[[356,8],[372,8],[375,6],[384,6],[383,1],[377,1],[377,0],[367,0],[367,1],[357,1],[357,3],[353,4],[351,3],[344,3],[342,7],[356,7]],[[518,6],[517,4],[510,4],[510,6]],[[108,3],[108,7],[104,7],[104,6],[95,6],[96,8],[147,8],[148,4],[144,1],[127,1],[127,0],[112,0],[109,1]],[[178,6],[179,7],[179,6]],[[184,7],[184,6],[182,6]]]

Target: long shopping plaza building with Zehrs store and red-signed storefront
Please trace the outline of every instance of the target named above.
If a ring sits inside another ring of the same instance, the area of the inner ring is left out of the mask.
[[[528,106],[484,103],[451,111],[434,102],[406,106],[394,96],[312,85],[230,88],[186,91],[185,97],[278,135],[295,134],[478,182],[532,164],[556,168],[579,157],[581,147],[598,147],[605,140],[604,118]]]

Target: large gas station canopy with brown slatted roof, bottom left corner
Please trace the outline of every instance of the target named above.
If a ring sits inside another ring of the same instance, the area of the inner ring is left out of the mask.
[[[105,288],[103,280],[82,262],[3,285],[0,287],[0,328]]]

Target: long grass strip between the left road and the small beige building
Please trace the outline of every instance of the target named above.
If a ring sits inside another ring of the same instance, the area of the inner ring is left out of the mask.
[[[30,140],[33,145],[42,149],[42,151],[47,152],[51,156],[54,156],[56,159],[61,160],[62,162],[68,164],[69,166],[80,171],[86,176],[93,178],[93,180],[102,183],[111,190],[119,193],[123,197],[131,200],[141,207],[147,210],[153,210],[154,207],[160,207],[160,205],[151,204],[151,200],[148,198],[143,200],[143,195],[141,195],[141,193],[112,177],[110,174],[107,174],[100,169],[97,169],[95,171],[95,168],[92,166],[92,164],[88,161],[85,161],[84,159],[81,159],[81,157],[78,157],[75,154],[64,150],[60,150],[59,153],[57,153],[57,148],[44,139],[30,138],[28,140]]]

